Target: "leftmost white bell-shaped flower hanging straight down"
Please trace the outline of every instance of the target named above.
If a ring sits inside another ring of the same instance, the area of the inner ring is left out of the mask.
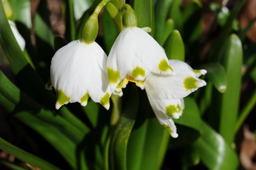
[[[56,109],[68,102],[86,106],[88,98],[109,109],[111,90],[107,77],[107,55],[96,43],[72,41],[52,58],[51,82],[57,92]]]

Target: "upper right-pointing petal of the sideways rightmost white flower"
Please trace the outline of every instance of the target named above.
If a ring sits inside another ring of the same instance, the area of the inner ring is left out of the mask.
[[[169,60],[169,64],[176,75],[152,74],[145,81],[145,89],[151,91],[156,99],[181,99],[206,85],[206,82],[197,78],[198,74],[195,74],[185,62]]]

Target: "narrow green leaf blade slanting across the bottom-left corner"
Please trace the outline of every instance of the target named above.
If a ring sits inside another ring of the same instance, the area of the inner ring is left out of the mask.
[[[2,138],[0,138],[0,149],[38,168],[47,170],[60,170],[49,162],[10,144]]]

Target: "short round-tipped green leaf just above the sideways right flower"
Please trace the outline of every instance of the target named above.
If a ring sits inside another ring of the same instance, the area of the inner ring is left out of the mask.
[[[168,59],[185,61],[185,48],[178,30],[172,31],[164,44]]]

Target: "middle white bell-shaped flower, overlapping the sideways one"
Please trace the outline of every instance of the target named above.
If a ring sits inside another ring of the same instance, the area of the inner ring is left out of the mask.
[[[172,75],[172,68],[160,45],[143,29],[124,28],[110,50],[108,78],[111,90],[120,92],[126,75],[143,81],[149,74]]]

